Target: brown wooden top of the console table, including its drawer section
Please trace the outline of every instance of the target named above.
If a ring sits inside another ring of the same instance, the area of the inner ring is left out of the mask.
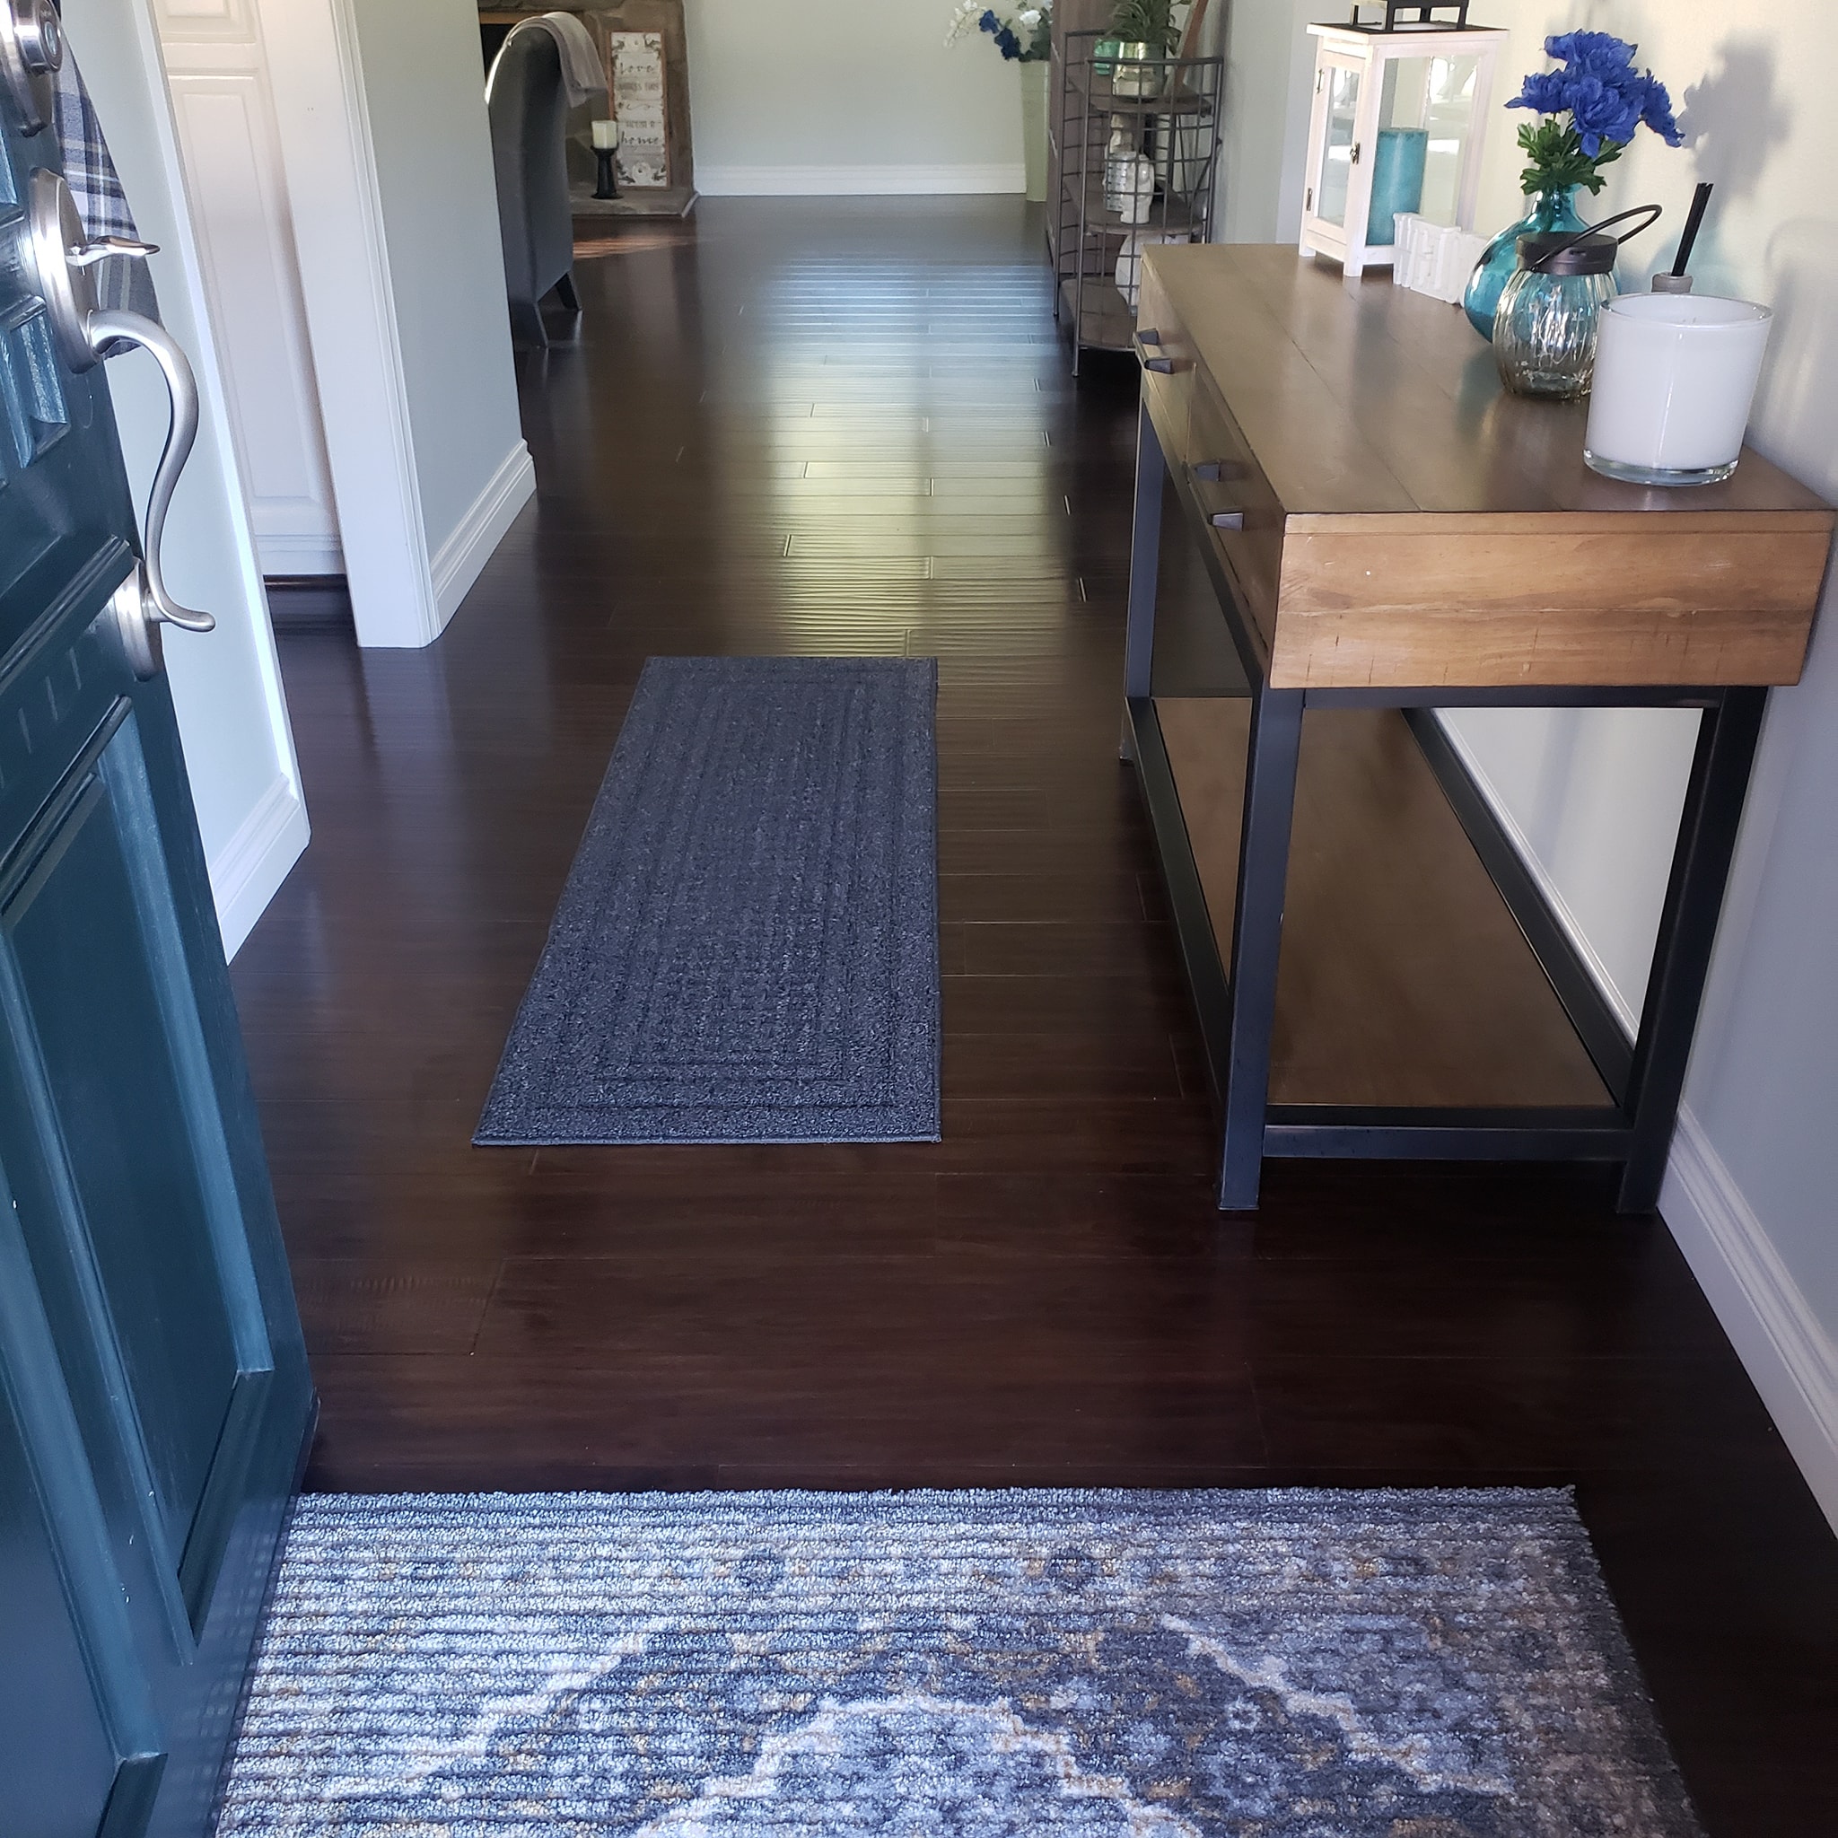
[[[1719,485],[1583,463],[1459,309],[1292,246],[1143,252],[1163,454],[1276,687],[1799,678],[1838,515],[1744,448]]]

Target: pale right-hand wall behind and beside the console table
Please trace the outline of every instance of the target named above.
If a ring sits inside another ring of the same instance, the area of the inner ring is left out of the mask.
[[[1533,61],[1546,31],[1579,20],[1520,0],[1489,9],[1511,24],[1511,68]],[[1776,309],[1750,437],[1768,458],[1838,498],[1838,206],[1829,184],[1831,83],[1838,18],[1820,0],[1768,0],[1744,11],[1711,0],[1599,4],[1586,24],[1638,40],[1682,108],[1685,147],[1641,134],[1610,169],[1599,206],[1654,200],[1663,233],[1630,250],[1623,285],[1645,285],[1676,246],[1698,178],[1717,182],[1691,267],[1700,292]],[[1518,197],[1516,149],[1487,151],[1485,217],[1505,221]],[[1827,594],[1827,601],[1831,594]],[[1838,630],[1827,603],[1807,676],[1776,691],[1724,910],[1709,998],[1685,1103],[1684,1162],[1674,1156],[1665,1213],[1674,1230],[1750,1231],[1752,1285],[1772,1290],[1757,1325],[1794,1366],[1812,1430],[1788,1419],[1794,1399],[1763,1384],[1783,1432],[1838,1522]],[[1651,724],[1651,719],[1649,719]],[[1588,719],[1469,713],[1459,730],[1494,789],[1538,844],[1559,890],[1603,941],[1616,981],[1634,996],[1636,947],[1651,937],[1663,862],[1651,838],[1669,829],[1687,765],[1676,732],[1643,733],[1632,715]],[[1560,787],[1560,790],[1555,790]],[[1693,1151],[1708,1151],[1708,1160]],[[1691,1176],[1696,1174],[1698,1180]],[[1730,1219],[1719,1220],[1724,1209]],[[1687,1242],[1687,1250],[1689,1250]],[[1700,1246],[1713,1257],[1717,1244]],[[1695,1257],[1698,1263],[1698,1257]],[[1722,1272],[1700,1265],[1713,1290]],[[1728,1316],[1726,1316],[1728,1320]],[[1742,1340],[1737,1334],[1739,1344]],[[1753,1347],[1768,1358],[1770,1347]],[[1755,1364],[1752,1360],[1752,1369]],[[1823,1434],[1820,1447],[1812,1432]]]

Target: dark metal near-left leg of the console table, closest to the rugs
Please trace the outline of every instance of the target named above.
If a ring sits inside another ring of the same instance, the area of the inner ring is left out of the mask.
[[[1248,1211],[1257,1204],[1263,1173],[1301,704],[1301,689],[1259,686],[1252,693],[1237,915],[1231,926],[1231,1053],[1219,1165],[1219,1204],[1228,1211]]]

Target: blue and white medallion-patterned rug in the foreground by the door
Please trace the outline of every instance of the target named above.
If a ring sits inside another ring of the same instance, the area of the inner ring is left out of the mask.
[[[305,1498],[219,1838],[1696,1832],[1564,1492]]]

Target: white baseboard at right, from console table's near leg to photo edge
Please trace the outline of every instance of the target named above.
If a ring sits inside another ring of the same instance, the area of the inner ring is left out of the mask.
[[[1838,1344],[1689,1110],[1678,1112],[1660,1211],[1838,1531]]]

